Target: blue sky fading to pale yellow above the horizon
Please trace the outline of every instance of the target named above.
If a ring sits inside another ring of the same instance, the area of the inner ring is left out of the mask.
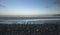
[[[0,0],[0,15],[60,14],[60,0]]]

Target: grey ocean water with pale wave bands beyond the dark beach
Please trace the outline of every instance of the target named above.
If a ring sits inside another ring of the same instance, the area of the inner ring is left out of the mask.
[[[60,18],[0,17],[0,24],[45,24],[60,23]]]

